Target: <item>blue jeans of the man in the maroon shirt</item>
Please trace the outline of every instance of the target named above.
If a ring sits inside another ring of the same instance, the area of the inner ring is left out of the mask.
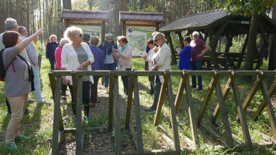
[[[202,70],[202,61],[192,61],[191,71],[201,71]],[[196,88],[198,84],[198,89],[202,89],[202,77],[201,75],[197,75],[197,79],[195,75],[192,75],[192,86]]]

